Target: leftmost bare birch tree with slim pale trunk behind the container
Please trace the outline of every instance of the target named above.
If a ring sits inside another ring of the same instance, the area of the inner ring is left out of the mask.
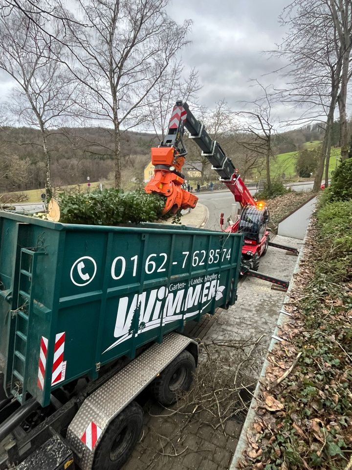
[[[6,71],[15,83],[9,108],[19,122],[36,126],[42,135],[45,162],[45,189],[52,196],[48,129],[56,126],[69,114],[73,90],[63,66],[54,61],[62,47],[48,44],[42,33],[43,17],[36,23],[21,10],[0,9],[0,69]],[[39,27],[37,24],[40,24]],[[53,31],[55,30],[54,25]],[[56,31],[58,33],[58,31]]]

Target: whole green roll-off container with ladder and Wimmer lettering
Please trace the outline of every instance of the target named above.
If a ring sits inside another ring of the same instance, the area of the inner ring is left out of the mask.
[[[50,392],[236,300],[242,235],[68,225],[0,211],[4,387]]]

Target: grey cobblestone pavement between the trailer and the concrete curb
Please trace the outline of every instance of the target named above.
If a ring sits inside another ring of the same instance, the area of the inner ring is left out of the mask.
[[[301,241],[283,236],[276,243],[300,247]],[[259,270],[282,279],[290,279],[297,258],[269,247]],[[190,333],[210,343],[219,340],[261,340],[257,351],[258,373],[275,328],[285,292],[271,290],[271,284],[245,278],[238,286],[238,301],[228,310],[220,310],[203,328],[193,326]],[[204,355],[205,356],[205,355]],[[204,357],[203,357],[204,359]],[[227,470],[236,449],[242,423],[228,420],[224,432],[173,414],[149,400],[144,406],[145,424],[140,442],[124,470]],[[176,454],[176,455],[175,455]]]

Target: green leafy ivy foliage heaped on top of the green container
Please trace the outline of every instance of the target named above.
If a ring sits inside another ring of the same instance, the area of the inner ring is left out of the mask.
[[[161,217],[165,200],[143,190],[95,190],[60,195],[60,221],[70,224],[120,225],[154,222]]]

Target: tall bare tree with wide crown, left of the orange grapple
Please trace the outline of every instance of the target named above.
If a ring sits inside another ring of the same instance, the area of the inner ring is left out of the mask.
[[[121,134],[149,119],[147,97],[177,52],[187,44],[190,22],[166,12],[168,0],[76,0],[80,20],[66,21],[74,78],[83,85],[81,117],[113,127],[115,187],[121,183]],[[68,12],[62,17],[72,19]]]

